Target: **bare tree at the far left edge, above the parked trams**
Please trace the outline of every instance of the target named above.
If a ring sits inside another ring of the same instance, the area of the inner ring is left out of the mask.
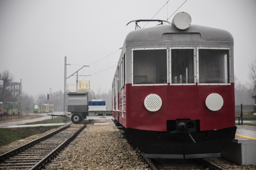
[[[0,73],[0,101],[14,100],[12,81],[13,75],[9,70]]]

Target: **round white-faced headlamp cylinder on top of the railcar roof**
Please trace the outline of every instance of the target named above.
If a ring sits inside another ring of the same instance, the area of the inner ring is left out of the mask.
[[[176,29],[187,29],[191,24],[191,17],[187,12],[179,12],[172,19],[172,26]]]

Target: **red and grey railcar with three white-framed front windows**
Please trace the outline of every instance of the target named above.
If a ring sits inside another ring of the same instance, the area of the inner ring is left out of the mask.
[[[235,137],[233,36],[190,23],[180,12],[123,44],[112,116],[148,158],[220,156]]]

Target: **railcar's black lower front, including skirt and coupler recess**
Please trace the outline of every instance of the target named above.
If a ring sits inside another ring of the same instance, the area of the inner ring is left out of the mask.
[[[118,121],[114,123],[121,131],[121,138],[126,138],[145,154],[178,155],[177,158],[186,158],[186,155],[215,157],[235,138],[236,133],[236,126],[200,131],[197,120],[167,121],[167,131],[124,128]]]

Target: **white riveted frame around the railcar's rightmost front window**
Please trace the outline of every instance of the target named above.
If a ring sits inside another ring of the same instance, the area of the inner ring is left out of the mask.
[[[199,49],[227,49],[229,51],[229,83],[199,83]],[[231,54],[230,54],[230,48],[220,48],[220,47],[197,47],[197,85],[231,85],[231,65],[230,65],[230,60],[231,60]]]

